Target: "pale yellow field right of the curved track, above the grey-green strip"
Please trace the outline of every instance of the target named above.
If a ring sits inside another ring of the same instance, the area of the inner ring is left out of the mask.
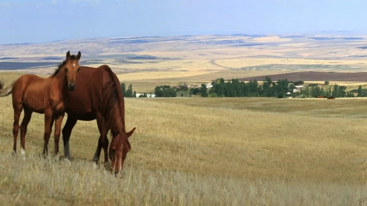
[[[365,65],[364,60],[318,60],[318,59],[291,59],[291,58],[238,58],[238,59],[220,59],[215,61],[218,65],[225,67],[243,67],[258,66],[269,64],[287,64],[287,65]]]

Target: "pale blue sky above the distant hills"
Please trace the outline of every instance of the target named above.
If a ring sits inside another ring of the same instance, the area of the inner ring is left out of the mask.
[[[0,0],[0,44],[186,34],[367,31],[364,0]]]

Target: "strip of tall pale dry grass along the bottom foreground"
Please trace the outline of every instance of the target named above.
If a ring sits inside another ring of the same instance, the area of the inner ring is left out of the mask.
[[[366,205],[366,186],[248,181],[125,167],[120,178],[88,161],[0,157],[1,205]]]

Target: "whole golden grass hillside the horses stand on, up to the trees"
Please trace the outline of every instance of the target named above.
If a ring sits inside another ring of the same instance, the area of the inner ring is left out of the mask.
[[[0,98],[2,203],[366,205],[367,99],[125,101],[137,130],[120,179],[91,162],[95,121],[76,124],[68,162],[40,157],[44,117],[33,114],[26,156],[12,157],[11,96]]]

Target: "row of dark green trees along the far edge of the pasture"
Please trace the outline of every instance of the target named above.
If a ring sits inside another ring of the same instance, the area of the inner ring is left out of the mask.
[[[286,98],[292,96],[295,98],[317,98],[318,96],[326,97],[355,97],[353,92],[358,92],[357,96],[367,96],[367,89],[361,89],[361,86],[356,90],[345,91],[346,87],[335,84],[333,89],[328,87],[324,89],[317,84],[306,85],[300,92],[293,92],[297,85],[303,85],[304,81],[288,81],[287,79],[280,79],[272,81],[270,77],[265,77],[262,85],[257,80],[244,82],[233,78],[225,81],[224,78],[218,78],[211,82],[212,87],[207,89],[205,84],[201,84],[199,88],[190,88],[186,82],[178,85],[178,87],[171,87],[170,85],[157,86],[154,89],[156,97],[176,97],[177,92],[189,92],[190,95],[200,95],[202,97],[276,97]],[[325,81],[324,85],[329,85],[329,81]],[[136,97],[136,92],[132,90],[132,84],[126,89],[124,83],[121,84],[121,89],[124,96],[127,98]],[[289,93],[290,94],[289,94]],[[288,94],[287,94],[288,93]],[[151,93],[150,93],[151,94]],[[146,93],[139,97],[147,97]]]

